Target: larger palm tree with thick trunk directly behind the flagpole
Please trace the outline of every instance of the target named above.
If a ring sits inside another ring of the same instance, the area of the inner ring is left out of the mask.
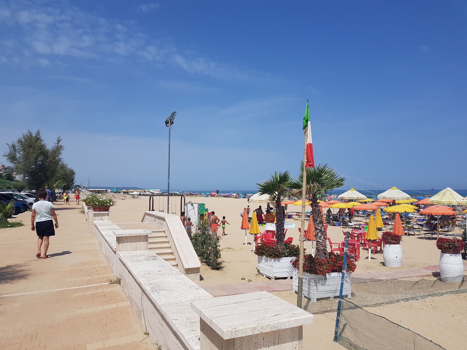
[[[320,259],[328,258],[326,235],[324,231],[323,217],[318,205],[318,197],[327,195],[333,189],[344,186],[345,178],[336,174],[334,168],[327,164],[318,164],[314,168],[306,168],[306,194],[311,196],[311,213],[313,224],[315,225],[316,237],[316,257]],[[294,190],[296,196],[301,197],[303,183],[303,165],[300,164],[300,175],[293,181],[290,188]]]

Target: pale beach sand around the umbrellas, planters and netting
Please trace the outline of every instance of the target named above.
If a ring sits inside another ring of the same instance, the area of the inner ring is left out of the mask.
[[[118,197],[117,197],[118,198]],[[211,286],[219,284],[239,284],[248,283],[248,280],[264,281],[268,280],[262,275],[256,273],[257,257],[253,253],[253,245],[245,245],[245,231],[240,229],[241,217],[248,203],[246,199],[233,199],[222,197],[187,197],[186,201],[193,203],[205,203],[209,211],[215,211],[219,217],[225,216],[230,225],[226,226],[226,236],[221,237],[220,244],[222,249],[223,268],[216,271],[209,267],[201,266],[201,280],[198,282],[200,286]],[[160,205],[158,205],[160,203]],[[155,203],[155,210],[167,210],[166,198],[160,199],[160,202]],[[266,203],[250,203],[252,210],[259,205],[266,206]],[[120,200],[116,206],[111,209],[109,219],[113,222],[138,222],[141,221],[143,212],[149,208],[149,198],[127,197],[125,200]],[[170,210],[175,212],[174,215],[180,213],[180,198],[176,199],[176,203],[170,206]],[[295,209],[296,208],[296,209]],[[310,207],[307,207],[309,210]],[[290,205],[290,211],[299,211],[300,206]],[[251,215],[251,214],[250,214]],[[296,228],[288,229],[286,237],[293,237],[293,243],[298,244],[298,225],[299,221],[286,219],[287,222],[295,223]],[[264,226],[260,226],[261,231],[264,231]],[[333,242],[343,240],[342,229],[340,227],[329,226],[328,237]],[[247,233],[249,243],[253,242],[253,236]],[[400,268],[390,268],[392,271],[398,269],[415,268],[422,266],[433,266],[439,264],[439,250],[436,248],[436,239],[423,239],[419,235],[404,236],[403,247],[403,266]],[[311,242],[305,241],[305,248],[311,250]],[[362,258],[368,254],[367,251],[361,251]],[[372,255],[374,259],[361,259],[358,261],[355,274],[364,273],[385,273],[389,268],[385,267],[382,262],[382,254],[376,253]],[[245,280],[242,280],[245,278]],[[421,280],[422,277],[408,278],[405,280]],[[425,276],[424,280],[434,281],[433,276]],[[359,288],[355,288],[359,290]],[[364,289],[360,289],[364,290]],[[358,293],[358,292],[357,292]],[[365,292],[364,292],[365,293]],[[386,289],[371,291],[371,293],[387,293]],[[296,304],[297,296],[292,291],[273,292],[280,298]],[[403,293],[401,293],[403,297]],[[361,299],[365,299],[366,295],[360,295]],[[358,300],[358,298],[355,298]],[[319,302],[318,302],[319,303]],[[409,329],[412,329],[422,336],[425,336],[432,341],[446,347],[446,349],[463,349],[463,344],[467,341],[465,332],[461,330],[467,329],[466,314],[459,310],[466,310],[467,294],[439,294],[437,297],[411,300],[404,302],[391,303],[384,306],[366,308],[370,312],[386,317],[390,321],[396,322]],[[305,327],[304,339],[305,349],[342,349],[342,347],[332,342],[333,330],[335,325],[335,312],[325,312],[315,314],[315,323]]]

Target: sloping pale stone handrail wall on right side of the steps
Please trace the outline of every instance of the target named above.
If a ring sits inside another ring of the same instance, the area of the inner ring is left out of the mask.
[[[141,222],[154,224],[165,230],[180,272],[191,280],[199,280],[201,263],[180,218],[159,211],[145,211]]]

